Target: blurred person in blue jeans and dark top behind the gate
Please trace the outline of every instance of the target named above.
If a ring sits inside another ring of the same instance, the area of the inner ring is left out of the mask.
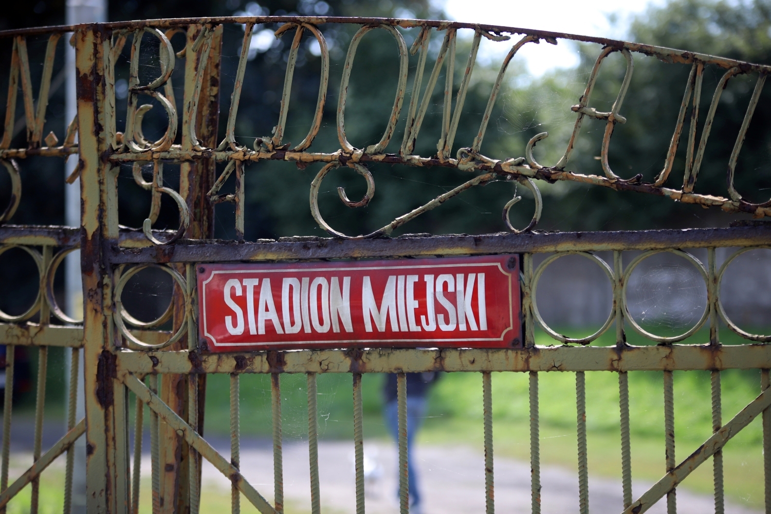
[[[396,385],[396,373],[386,375],[383,385],[383,418],[389,433],[399,444],[399,401]],[[411,514],[422,514],[418,477],[412,459],[412,446],[415,435],[426,417],[426,398],[429,389],[439,379],[434,371],[426,373],[407,373],[407,474],[409,477],[409,509]],[[398,459],[397,459],[398,462]],[[396,472],[396,498],[399,498],[399,469]]]

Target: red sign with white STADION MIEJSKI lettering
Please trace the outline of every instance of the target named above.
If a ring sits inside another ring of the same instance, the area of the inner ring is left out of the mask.
[[[520,341],[519,257],[200,264],[209,351],[510,348]]]

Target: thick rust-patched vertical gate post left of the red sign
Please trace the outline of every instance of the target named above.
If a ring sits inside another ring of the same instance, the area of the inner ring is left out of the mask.
[[[116,429],[113,386],[112,332],[113,267],[105,249],[118,238],[118,169],[103,160],[109,152],[106,111],[114,109],[106,98],[103,29],[77,25],[75,41],[78,100],[78,162],[80,167],[81,269],[83,285],[83,359],[86,405],[86,510],[118,512],[116,482],[119,475],[113,456],[121,448],[110,437]],[[130,133],[130,132],[129,132]],[[123,499],[121,499],[123,500]]]

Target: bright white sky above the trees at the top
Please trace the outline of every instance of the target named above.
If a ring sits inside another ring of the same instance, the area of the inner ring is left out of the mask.
[[[489,23],[524,29],[569,32],[625,39],[631,18],[649,5],[665,0],[439,0],[450,19],[459,22]],[[510,45],[483,45],[480,58],[505,55]],[[520,51],[533,76],[550,69],[569,68],[577,63],[571,45],[525,45]]]

